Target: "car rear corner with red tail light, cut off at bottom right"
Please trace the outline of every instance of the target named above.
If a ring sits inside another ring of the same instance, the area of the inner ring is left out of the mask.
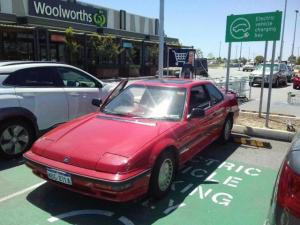
[[[265,225],[300,224],[300,132],[284,159],[271,199]]]

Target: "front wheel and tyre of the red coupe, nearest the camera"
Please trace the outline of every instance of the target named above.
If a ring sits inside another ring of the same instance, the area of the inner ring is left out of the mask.
[[[158,157],[150,178],[151,197],[161,199],[169,192],[175,176],[175,167],[175,156],[171,151],[164,151]]]

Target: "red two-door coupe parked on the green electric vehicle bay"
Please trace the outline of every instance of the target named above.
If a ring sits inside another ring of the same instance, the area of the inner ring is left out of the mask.
[[[121,82],[100,111],[50,131],[24,154],[37,176],[96,198],[163,197],[176,169],[206,146],[226,142],[238,105],[209,81]],[[101,104],[101,106],[100,106]]]

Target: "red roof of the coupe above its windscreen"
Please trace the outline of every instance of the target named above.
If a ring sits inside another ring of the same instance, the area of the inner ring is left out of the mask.
[[[132,85],[143,86],[158,86],[158,87],[178,87],[178,88],[191,88],[195,85],[212,84],[209,80],[190,80],[190,79],[150,79],[140,80],[134,82]]]

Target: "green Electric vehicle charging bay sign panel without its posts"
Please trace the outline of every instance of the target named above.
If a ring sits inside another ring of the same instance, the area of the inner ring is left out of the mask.
[[[282,12],[227,16],[226,42],[280,39]]]

